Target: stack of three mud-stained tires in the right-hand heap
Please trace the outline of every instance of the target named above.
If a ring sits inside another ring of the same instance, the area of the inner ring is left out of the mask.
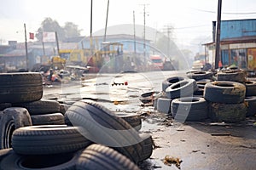
[[[217,81],[208,82],[204,98],[210,103],[209,116],[214,122],[241,122],[245,120],[247,105],[245,74],[227,70],[217,74]]]

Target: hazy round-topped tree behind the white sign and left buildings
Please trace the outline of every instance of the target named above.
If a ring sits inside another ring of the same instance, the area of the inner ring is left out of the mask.
[[[64,27],[61,27],[56,20],[51,18],[45,18],[41,23],[41,27],[38,28],[36,37],[39,41],[43,40],[43,31],[56,31],[59,41],[63,41],[67,37],[78,37],[80,36],[80,30],[78,26],[72,22],[66,22]]]

